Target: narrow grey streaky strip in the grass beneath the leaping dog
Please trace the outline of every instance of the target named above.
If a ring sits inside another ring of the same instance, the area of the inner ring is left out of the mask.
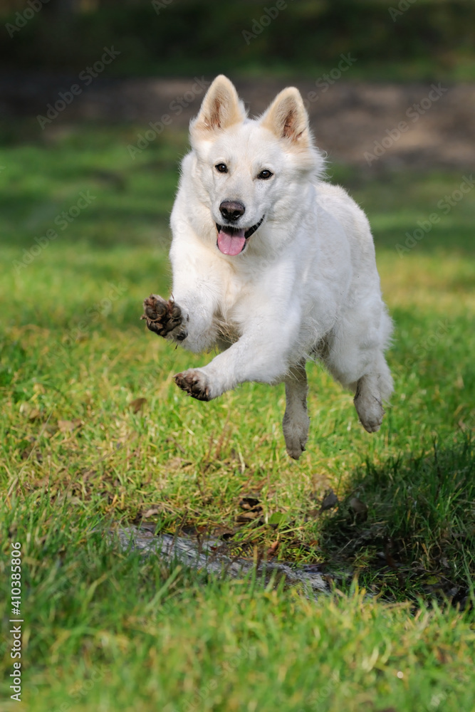
[[[241,578],[255,572],[268,582],[275,577],[276,583],[285,580],[286,585],[301,585],[307,595],[317,596],[328,592],[328,577],[323,576],[317,564],[298,566],[293,563],[261,561],[257,564],[248,559],[229,554],[229,545],[214,538],[177,536],[150,531],[130,525],[110,532],[115,535],[122,550],[139,550],[145,556],[155,556],[161,561],[182,563],[196,569],[206,570],[220,578]]]

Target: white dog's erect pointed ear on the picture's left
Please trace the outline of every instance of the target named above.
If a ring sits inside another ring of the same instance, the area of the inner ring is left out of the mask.
[[[199,114],[192,120],[189,129],[192,133],[222,130],[245,118],[246,110],[234,84],[220,74],[209,87]]]

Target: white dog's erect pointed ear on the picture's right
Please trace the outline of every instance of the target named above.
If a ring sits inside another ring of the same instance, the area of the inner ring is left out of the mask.
[[[261,125],[278,138],[305,146],[310,142],[308,114],[295,87],[283,89],[261,118]]]

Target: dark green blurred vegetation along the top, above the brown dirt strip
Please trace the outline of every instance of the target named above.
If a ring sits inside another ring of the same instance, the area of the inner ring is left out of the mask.
[[[357,59],[352,80],[470,80],[474,73],[469,0],[2,0],[0,6],[4,70],[75,73],[104,44],[114,44],[121,55],[108,78],[218,70],[313,78],[342,52]]]

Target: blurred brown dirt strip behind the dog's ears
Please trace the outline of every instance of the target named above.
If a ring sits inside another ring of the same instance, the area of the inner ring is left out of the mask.
[[[91,78],[89,78],[91,80]],[[66,122],[101,120],[147,126],[170,117],[163,135],[185,129],[199,109],[211,77],[104,80],[88,86],[78,77],[0,76],[0,115],[47,117],[46,130]],[[398,167],[475,167],[475,85],[444,83],[333,84],[308,80],[236,80],[250,115],[258,115],[285,85],[298,86],[310,114],[317,145],[330,161],[360,164],[372,171]],[[75,85],[79,88],[71,93]],[[72,97],[61,101],[60,92]],[[57,102],[59,101],[59,104]]]

